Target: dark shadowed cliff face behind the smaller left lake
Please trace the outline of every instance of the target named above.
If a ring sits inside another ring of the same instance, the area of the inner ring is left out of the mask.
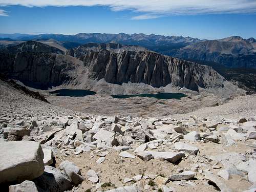
[[[0,71],[8,77],[31,82],[45,89],[69,81],[75,70],[73,60],[65,55],[19,52],[0,53]]]

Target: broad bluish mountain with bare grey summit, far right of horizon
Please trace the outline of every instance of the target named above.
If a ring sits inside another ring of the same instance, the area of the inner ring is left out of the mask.
[[[232,36],[219,40],[205,40],[174,51],[171,55],[221,63],[232,68],[256,68],[254,38]]]

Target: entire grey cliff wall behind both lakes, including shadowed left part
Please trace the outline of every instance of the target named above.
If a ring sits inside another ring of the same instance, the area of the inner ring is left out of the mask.
[[[2,53],[0,70],[12,78],[43,87],[81,84],[85,80],[103,78],[109,83],[145,83],[157,88],[172,83],[176,87],[198,91],[199,87],[221,88],[225,81],[211,67],[137,46],[88,44],[71,49],[67,54],[30,51]]]

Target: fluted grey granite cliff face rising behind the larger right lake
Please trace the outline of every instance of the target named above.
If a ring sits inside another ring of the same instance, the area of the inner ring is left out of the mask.
[[[125,50],[106,50],[98,49],[99,46],[101,45],[84,45],[68,52],[83,61],[92,79],[104,78],[107,82],[118,84],[129,81],[143,82],[152,87],[172,83],[173,86],[190,90],[198,90],[198,87],[221,87],[224,80],[212,68],[193,62],[148,50],[134,51],[131,47],[125,47]]]

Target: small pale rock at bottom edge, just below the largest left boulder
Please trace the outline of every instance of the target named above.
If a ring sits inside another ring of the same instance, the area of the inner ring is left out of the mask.
[[[9,192],[38,192],[33,181],[24,181],[17,185],[10,185]]]

